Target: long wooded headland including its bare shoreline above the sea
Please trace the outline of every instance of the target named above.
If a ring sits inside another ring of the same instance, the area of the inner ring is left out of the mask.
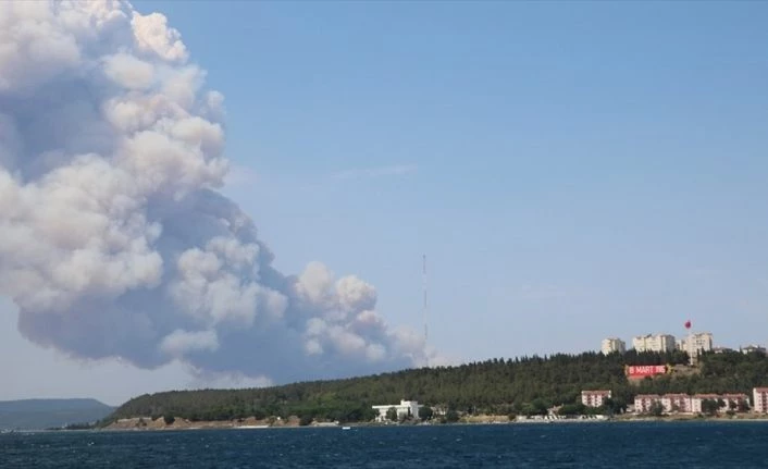
[[[421,419],[432,422],[483,421],[485,417],[481,416],[501,416],[507,421],[519,417],[618,417],[630,412],[651,417],[665,414],[664,409],[654,408],[653,414],[642,409],[635,411],[635,396],[751,395],[753,388],[768,384],[768,358],[761,353],[707,353],[699,357],[696,366],[689,362],[688,355],[680,350],[558,354],[495,358],[456,367],[409,369],[263,388],[173,391],[133,398],[102,420],[100,427],[371,422],[377,415],[372,406],[398,403],[402,398],[423,405]],[[628,378],[628,368],[637,366],[665,366],[662,368],[669,372],[642,379]],[[586,406],[581,397],[584,390],[609,390],[610,397],[599,406]],[[750,404],[745,403],[723,411],[745,414],[750,410]],[[713,411],[717,414],[718,409]],[[499,420],[499,417],[493,419]]]

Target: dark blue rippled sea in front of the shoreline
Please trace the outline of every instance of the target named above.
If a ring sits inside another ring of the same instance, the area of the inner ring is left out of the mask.
[[[765,422],[0,434],[0,468],[768,468]]]

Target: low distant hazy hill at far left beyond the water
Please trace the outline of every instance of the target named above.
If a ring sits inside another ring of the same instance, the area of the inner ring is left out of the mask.
[[[96,422],[114,411],[96,399],[0,400],[0,429],[41,430]]]

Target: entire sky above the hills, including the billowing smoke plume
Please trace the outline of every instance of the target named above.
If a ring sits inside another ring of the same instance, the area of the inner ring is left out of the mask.
[[[768,343],[766,3],[51,5],[0,3],[0,399]]]

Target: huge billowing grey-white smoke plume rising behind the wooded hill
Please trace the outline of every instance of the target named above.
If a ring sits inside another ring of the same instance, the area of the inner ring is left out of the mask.
[[[223,97],[163,15],[0,2],[0,294],[30,341],[276,381],[423,365],[376,291],[272,268],[215,189]]]

